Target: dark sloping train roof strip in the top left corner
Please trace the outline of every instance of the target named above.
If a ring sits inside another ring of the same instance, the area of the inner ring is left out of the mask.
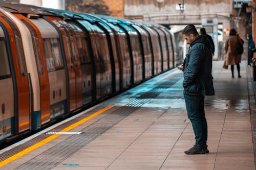
[[[51,12],[45,11],[41,7],[18,4],[18,3],[6,3],[0,2],[0,7],[11,13],[23,13],[23,14],[37,14],[37,15],[55,15]]]

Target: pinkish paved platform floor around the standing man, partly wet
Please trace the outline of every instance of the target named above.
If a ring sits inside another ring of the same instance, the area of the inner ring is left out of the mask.
[[[162,87],[164,90],[155,98],[147,100],[52,169],[254,170],[246,69],[250,68],[242,62],[242,78],[238,79],[235,66],[235,78],[232,79],[230,69],[223,69],[222,61],[214,61],[212,75],[216,95],[205,98],[209,154],[184,154],[185,150],[193,147],[195,139],[183,99],[183,74],[175,71],[172,76],[163,79],[177,79],[171,88]],[[146,84],[141,86],[146,87]],[[116,110],[128,100],[119,101],[115,105]],[[106,111],[99,117],[106,114],[112,113]],[[91,123],[99,117],[91,119]],[[89,124],[84,123],[72,131],[81,131]],[[67,138],[61,135],[2,168],[19,169],[20,165]]]

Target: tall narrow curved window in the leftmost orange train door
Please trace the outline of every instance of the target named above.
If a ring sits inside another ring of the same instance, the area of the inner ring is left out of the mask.
[[[20,69],[20,74],[22,76],[26,76],[27,70],[26,70],[26,63],[25,63],[25,58],[24,58],[24,52],[23,52],[23,46],[22,46],[22,39],[20,38],[20,34],[14,24],[8,20],[6,17],[2,16],[2,18],[9,23],[9,25],[12,28],[12,31],[14,33],[15,37],[15,43],[16,43],[16,49],[17,49],[17,55],[18,55],[18,61],[19,61],[19,69]]]

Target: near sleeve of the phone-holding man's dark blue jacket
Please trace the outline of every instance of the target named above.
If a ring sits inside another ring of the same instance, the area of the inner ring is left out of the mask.
[[[193,84],[197,80],[201,61],[203,59],[203,44],[195,44],[189,52],[189,61],[184,72],[183,87]]]

